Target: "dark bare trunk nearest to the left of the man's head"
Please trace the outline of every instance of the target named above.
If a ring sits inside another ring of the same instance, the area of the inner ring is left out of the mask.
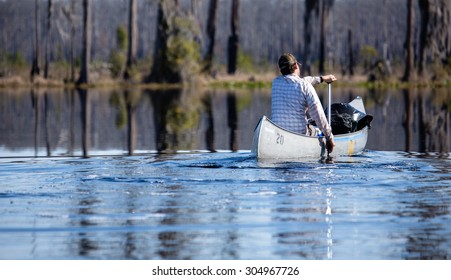
[[[235,74],[238,64],[238,45],[239,45],[239,0],[232,1],[232,35],[229,37],[228,42],[228,66],[227,73]]]

